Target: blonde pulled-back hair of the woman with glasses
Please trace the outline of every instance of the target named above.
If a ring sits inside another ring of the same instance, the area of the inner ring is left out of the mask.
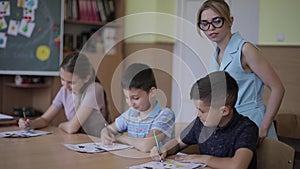
[[[224,17],[225,22],[230,25],[230,8],[229,5],[225,2],[225,0],[207,0],[205,1],[198,10],[197,14],[197,23],[201,21],[201,14],[204,10],[211,9],[214,12],[218,13],[221,17]],[[198,25],[198,24],[197,24]],[[200,28],[197,26],[198,33],[200,33]]]

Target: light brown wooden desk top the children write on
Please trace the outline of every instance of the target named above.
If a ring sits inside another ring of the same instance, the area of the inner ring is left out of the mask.
[[[0,131],[18,130],[16,126]],[[58,128],[44,131],[53,134],[31,138],[0,138],[0,164],[3,169],[122,169],[150,161],[149,154],[135,149],[105,153],[79,153],[68,150],[64,143],[99,141],[85,134],[66,134]]]

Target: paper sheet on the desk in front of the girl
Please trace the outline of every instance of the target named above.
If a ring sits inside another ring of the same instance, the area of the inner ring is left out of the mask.
[[[26,138],[26,137],[36,137],[50,134],[47,131],[41,130],[14,130],[14,131],[5,131],[0,132],[0,138],[8,137],[8,138]]]

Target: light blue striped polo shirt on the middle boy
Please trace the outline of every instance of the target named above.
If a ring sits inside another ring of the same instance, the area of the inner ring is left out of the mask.
[[[129,108],[115,120],[119,132],[128,132],[129,137],[145,138],[151,130],[159,130],[166,137],[160,144],[166,143],[174,138],[175,114],[168,108],[162,108],[160,103],[144,118],[139,116],[139,112]]]

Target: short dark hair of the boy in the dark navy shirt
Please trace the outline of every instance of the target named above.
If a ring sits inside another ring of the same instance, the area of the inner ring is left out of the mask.
[[[237,97],[238,84],[225,71],[216,71],[199,79],[190,92],[192,100],[201,100],[212,107],[234,107]]]

